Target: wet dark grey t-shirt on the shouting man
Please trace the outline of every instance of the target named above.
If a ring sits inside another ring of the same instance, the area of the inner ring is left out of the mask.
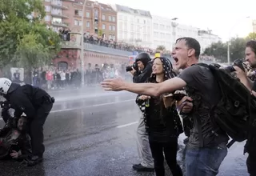
[[[214,80],[213,74],[206,67],[198,65],[190,66],[183,70],[182,73],[178,75],[178,78],[182,78],[182,80],[186,82],[186,86],[192,87],[202,94],[202,102],[205,102],[206,105],[215,105],[221,98],[218,84]],[[189,118],[197,117],[196,114],[200,114],[200,117],[197,118],[200,118],[202,123],[203,146],[225,146],[229,140],[225,132],[218,134],[218,136],[212,133],[216,127],[214,127],[209,116],[210,110],[205,106],[200,106],[197,111],[198,112],[192,111],[189,114]],[[190,142],[188,146],[200,147],[197,122],[194,123],[193,129],[190,131]]]

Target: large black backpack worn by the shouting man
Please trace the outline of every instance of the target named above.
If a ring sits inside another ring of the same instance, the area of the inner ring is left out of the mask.
[[[210,107],[210,115],[216,125],[232,138],[227,147],[250,138],[256,126],[256,106],[250,91],[238,78],[216,65],[197,65],[209,68],[221,90],[221,100]]]

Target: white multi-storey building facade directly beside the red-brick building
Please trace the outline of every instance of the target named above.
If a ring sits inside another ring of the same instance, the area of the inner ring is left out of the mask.
[[[152,47],[152,17],[149,11],[113,5],[118,15],[118,41]]]

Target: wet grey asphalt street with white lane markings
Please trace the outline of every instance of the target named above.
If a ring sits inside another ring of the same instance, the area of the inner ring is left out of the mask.
[[[44,161],[34,167],[23,166],[20,162],[0,162],[0,175],[154,175],[132,170],[132,165],[138,163],[135,130],[140,116],[134,94],[105,92],[100,88],[51,94],[56,102],[44,127]],[[0,126],[3,126],[2,121]],[[183,138],[181,136],[180,140]],[[218,175],[248,175],[243,146],[243,143],[231,146]]]

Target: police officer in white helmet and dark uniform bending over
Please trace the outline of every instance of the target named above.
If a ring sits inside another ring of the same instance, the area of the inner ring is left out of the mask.
[[[10,108],[15,110],[14,117],[20,117],[25,113],[28,118],[33,154],[30,165],[42,162],[42,154],[45,151],[43,125],[53,107],[54,98],[38,87],[29,84],[21,86],[7,78],[0,78],[0,94],[9,102]]]

